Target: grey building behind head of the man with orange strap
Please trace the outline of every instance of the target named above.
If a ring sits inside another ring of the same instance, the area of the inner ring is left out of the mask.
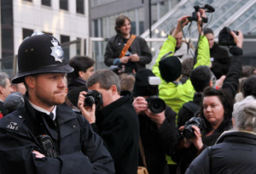
[[[153,25],[178,2],[180,0],[90,0],[90,36],[114,36],[119,14],[130,18],[132,34],[141,35],[149,28],[149,21]]]

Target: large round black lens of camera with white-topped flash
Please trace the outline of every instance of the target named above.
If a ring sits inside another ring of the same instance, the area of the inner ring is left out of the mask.
[[[151,112],[158,114],[166,109],[166,103],[161,98],[148,98],[148,109]]]

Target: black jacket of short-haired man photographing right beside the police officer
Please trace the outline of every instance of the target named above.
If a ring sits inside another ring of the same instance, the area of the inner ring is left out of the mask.
[[[96,112],[93,129],[112,155],[116,173],[137,173],[139,123],[131,97],[121,97]]]

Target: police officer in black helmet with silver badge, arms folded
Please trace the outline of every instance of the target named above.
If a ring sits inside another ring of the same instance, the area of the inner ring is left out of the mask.
[[[113,173],[113,160],[88,121],[64,103],[67,65],[60,43],[38,32],[18,52],[14,83],[26,85],[25,106],[0,122],[3,173]]]

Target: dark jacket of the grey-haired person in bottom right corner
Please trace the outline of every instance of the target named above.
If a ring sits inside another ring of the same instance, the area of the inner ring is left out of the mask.
[[[212,148],[205,149],[186,173],[256,173],[256,135],[224,132]]]

